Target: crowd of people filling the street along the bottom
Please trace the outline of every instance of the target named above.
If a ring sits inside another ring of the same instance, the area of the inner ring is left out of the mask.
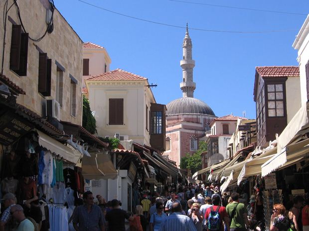
[[[68,220],[72,231],[309,231],[309,200],[295,197],[288,211],[282,204],[273,206],[270,227],[252,226],[263,221],[263,197],[257,191],[248,198],[245,193],[220,193],[214,184],[192,184],[167,188],[164,195],[146,192],[134,213],[121,208],[117,199],[106,201],[92,192],[75,200],[75,209]],[[171,190],[171,191],[168,191]],[[26,216],[25,206],[16,204],[13,194],[3,196],[4,210],[0,231],[39,231],[35,220]],[[248,203],[247,203],[248,202]],[[126,220],[130,226],[126,226]],[[14,229],[12,228],[14,227]]]

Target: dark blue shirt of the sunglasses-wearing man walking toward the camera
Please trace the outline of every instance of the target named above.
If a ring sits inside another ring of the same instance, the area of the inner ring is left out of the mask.
[[[99,206],[93,205],[88,212],[86,205],[76,208],[73,224],[78,224],[80,231],[101,231],[100,226],[105,224],[102,210]]]

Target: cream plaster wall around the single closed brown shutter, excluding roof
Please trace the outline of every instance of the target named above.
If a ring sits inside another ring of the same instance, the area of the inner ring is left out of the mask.
[[[145,94],[145,83],[144,80],[102,84],[87,82],[90,108],[95,111],[99,136],[113,137],[115,133],[120,133],[128,135],[129,140],[136,143],[150,145],[149,131],[146,130],[146,104],[150,110],[150,102],[154,99]],[[109,125],[109,98],[124,99],[124,125]]]

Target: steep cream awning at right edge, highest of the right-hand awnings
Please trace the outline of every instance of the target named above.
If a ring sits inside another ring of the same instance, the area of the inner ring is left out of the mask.
[[[298,137],[306,133],[304,130],[309,130],[308,108],[309,102],[300,108],[287,127],[282,131],[278,139],[278,153],[281,153],[281,150],[283,150],[287,145],[297,142]]]

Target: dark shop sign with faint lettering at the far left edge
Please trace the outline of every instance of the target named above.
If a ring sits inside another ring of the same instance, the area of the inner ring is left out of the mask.
[[[18,118],[12,112],[0,116],[0,143],[9,145],[30,132],[33,128],[29,122]]]

